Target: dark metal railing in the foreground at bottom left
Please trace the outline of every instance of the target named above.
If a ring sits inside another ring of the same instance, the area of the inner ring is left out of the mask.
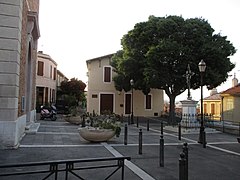
[[[124,160],[125,159],[131,160],[130,157],[110,157],[110,158],[45,161],[45,162],[33,162],[33,163],[21,163],[21,164],[6,164],[6,165],[0,165],[0,177],[44,174],[45,177],[41,179],[48,179],[49,177],[54,176],[55,180],[57,180],[58,174],[60,172],[65,172],[66,180],[68,179],[69,174],[72,174],[78,179],[84,179],[79,174],[77,174],[76,171],[86,170],[86,169],[115,168],[104,179],[109,179],[118,170],[122,169],[121,179],[124,180]],[[116,163],[112,163],[112,161],[115,161]],[[101,165],[96,165],[97,162],[111,162],[111,164],[102,163]],[[88,165],[79,166],[81,163],[88,163]],[[37,167],[37,169],[32,170],[34,169],[33,167]]]

